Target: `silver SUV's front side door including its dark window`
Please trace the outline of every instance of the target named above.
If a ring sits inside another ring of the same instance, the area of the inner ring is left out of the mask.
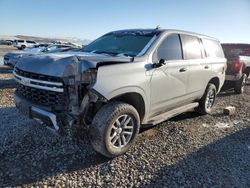
[[[154,68],[151,79],[151,116],[180,106],[186,99],[188,62],[183,61],[179,34],[170,34],[154,53],[165,65]]]

